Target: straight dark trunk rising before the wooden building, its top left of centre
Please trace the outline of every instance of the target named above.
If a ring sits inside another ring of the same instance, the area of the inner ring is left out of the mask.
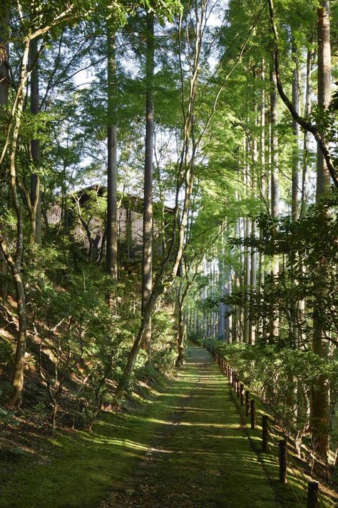
[[[118,196],[117,196],[117,126],[116,126],[116,35],[107,26],[107,272],[118,278]]]

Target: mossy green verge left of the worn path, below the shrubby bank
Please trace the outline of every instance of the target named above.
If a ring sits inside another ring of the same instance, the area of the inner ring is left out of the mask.
[[[159,403],[136,414],[103,414],[93,432],[58,432],[48,462],[2,461],[0,507],[93,507],[148,449]],[[167,410],[169,412],[169,409]]]

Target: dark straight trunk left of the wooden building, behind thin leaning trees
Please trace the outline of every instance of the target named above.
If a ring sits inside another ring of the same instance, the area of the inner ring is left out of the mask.
[[[39,114],[39,54],[38,39],[30,46],[31,67],[31,114]],[[40,164],[40,140],[31,140],[31,158],[34,166]],[[41,191],[39,174],[31,175],[31,241],[41,242]]]

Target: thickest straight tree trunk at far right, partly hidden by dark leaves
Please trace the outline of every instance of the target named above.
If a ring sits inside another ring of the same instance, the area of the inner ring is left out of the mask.
[[[330,27],[329,27],[329,1],[322,0],[318,9],[318,106],[322,111],[326,111],[331,100],[331,47],[330,47]],[[325,133],[322,133],[324,136]],[[322,151],[317,149],[317,201],[327,193],[330,184],[329,171],[325,163]],[[329,218],[329,217],[327,217]],[[314,302],[313,312],[313,336],[312,349],[320,357],[327,357],[328,341],[325,339],[325,323],[322,320],[322,307],[327,299],[328,278],[327,263],[323,257],[319,269],[320,287],[322,290],[317,294]],[[314,449],[327,457],[329,448],[329,382],[324,374],[319,376],[317,384],[312,390],[312,403],[310,422],[312,427],[312,437]]]

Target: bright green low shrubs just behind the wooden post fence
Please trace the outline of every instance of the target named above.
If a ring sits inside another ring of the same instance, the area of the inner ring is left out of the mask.
[[[329,380],[332,393],[337,392],[337,361],[328,362],[312,351],[273,344],[227,344],[216,339],[198,342],[224,358],[292,435],[308,432],[309,399],[320,377]]]

